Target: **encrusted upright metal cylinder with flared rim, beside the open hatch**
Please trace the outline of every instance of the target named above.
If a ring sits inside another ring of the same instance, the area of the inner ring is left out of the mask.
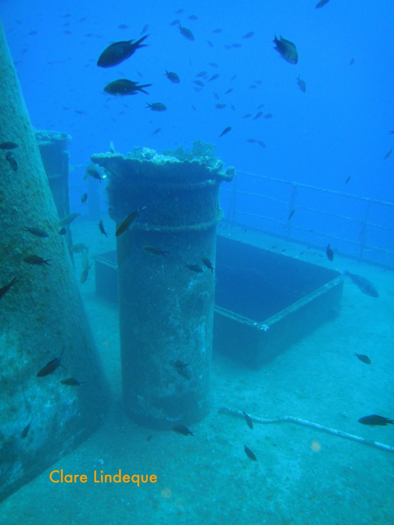
[[[108,170],[118,227],[146,206],[117,237],[125,409],[154,427],[199,421],[209,411],[215,290],[202,259],[215,266],[219,186],[234,169],[146,148],[139,158],[108,153],[92,161]]]

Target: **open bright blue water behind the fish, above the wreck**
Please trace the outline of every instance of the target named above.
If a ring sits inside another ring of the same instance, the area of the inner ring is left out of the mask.
[[[216,155],[239,172],[393,202],[394,157],[385,159],[394,140],[389,134],[394,127],[389,1],[328,2],[318,9],[313,2],[253,1],[225,6],[145,2],[138,7],[114,2],[110,7],[95,3],[94,8],[79,2],[55,3],[50,9],[46,2],[2,2],[1,8],[33,125],[71,135],[71,165],[86,165],[91,154],[108,151],[110,141],[126,153],[136,145],[159,152],[179,144],[190,149],[199,139],[215,144]],[[171,25],[177,19],[190,28],[194,41]],[[139,38],[144,27],[147,47],[116,67],[96,66],[105,47]],[[275,35],[296,45],[296,65],[273,49]],[[180,82],[170,82],[166,70],[176,72]],[[201,80],[201,71],[206,71],[203,87],[194,83]],[[214,74],[219,77],[210,81]],[[298,75],[305,93],[297,85]],[[103,87],[118,78],[151,83],[149,95],[108,96]],[[164,103],[167,111],[149,110],[146,104],[152,102]],[[217,109],[217,103],[226,105]],[[254,120],[259,111],[262,116]],[[244,118],[247,114],[251,116]],[[219,137],[229,126],[231,132]],[[83,173],[74,173],[78,188]],[[245,191],[256,191],[247,178],[240,177],[240,184]],[[267,207],[268,217],[277,213],[285,223],[291,190],[276,190],[286,205],[272,210],[264,200],[250,198],[248,211],[258,214]],[[272,192],[275,184],[269,185],[269,197]],[[375,232],[372,227],[367,240],[392,251],[392,206],[377,206],[371,218],[366,200],[338,202],[321,192],[303,195],[298,208],[338,212],[339,219],[299,212],[294,217],[295,226],[316,229],[317,239],[325,234],[325,245],[330,236],[344,238],[338,249],[358,256],[359,246],[350,245],[358,245],[365,220],[380,224],[381,219],[385,229]],[[71,205],[78,206],[78,198],[71,198]],[[344,218],[350,218],[346,225]],[[236,222],[254,226],[253,218],[239,216]],[[273,224],[256,223],[283,234]],[[295,237],[319,244],[300,233]],[[371,259],[392,266],[392,257],[380,251]]]

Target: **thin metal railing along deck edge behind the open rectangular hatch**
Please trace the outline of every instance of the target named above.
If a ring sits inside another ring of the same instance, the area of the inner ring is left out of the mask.
[[[253,228],[368,264],[394,267],[394,203],[237,171],[222,185],[224,225]]]

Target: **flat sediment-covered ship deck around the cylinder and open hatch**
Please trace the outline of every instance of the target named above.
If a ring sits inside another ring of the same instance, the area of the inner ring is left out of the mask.
[[[113,232],[106,239],[96,224],[81,221],[73,233],[75,242],[90,245],[89,255],[115,248]],[[262,239],[262,245],[271,241]],[[277,239],[275,245],[278,251],[286,247],[288,256],[304,250]],[[142,428],[122,413],[117,307],[96,296],[92,266],[81,293],[111,385],[111,409],[82,446],[0,504],[0,522],[394,523],[390,451],[292,423],[254,424],[251,430],[242,419],[218,413],[226,406],[262,418],[294,416],[394,447],[394,425],[358,423],[369,414],[394,418],[394,273],[339,256],[330,263],[312,250],[302,258],[346,267],[372,281],[380,297],[362,294],[346,279],[335,320],[258,370],[214,353],[211,413],[193,426],[194,437]],[[75,260],[79,280],[78,255]],[[372,364],[355,352],[368,355]],[[246,456],[244,444],[257,461]],[[61,469],[86,474],[88,481],[54,484],[49,474]],[[155,475],[157,481],[94,482],[95,470],[113,475],[119,469],[130,476]]]

